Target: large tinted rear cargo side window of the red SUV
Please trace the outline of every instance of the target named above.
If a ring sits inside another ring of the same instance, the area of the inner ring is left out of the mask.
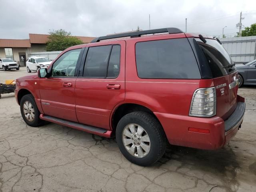
[[[140,78],[200,79],[200,71],[186,38],[136,43]]]

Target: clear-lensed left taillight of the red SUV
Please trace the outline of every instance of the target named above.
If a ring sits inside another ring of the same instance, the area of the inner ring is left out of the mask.
[[[200,88],[194,92],[189,116],[212,117],[216,115],[215,87]]]

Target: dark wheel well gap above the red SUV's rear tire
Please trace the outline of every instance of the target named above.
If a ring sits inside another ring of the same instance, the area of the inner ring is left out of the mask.
[[[122,104],[120,105],[114,112],[113,116],[112,116],[112,129],[116,130],[116,126],[119,122],[119,120],[125,116],[128,113],[134,112],[134,111],[144,111],[147,112],[151,115],[153,115],[156,120],[159,122],[158,118],[155,116],[155,114],[149,109],[146,108],[142,105],[138,105],[138,104],[132,104],[132,103],[127,103],[127,104]]]

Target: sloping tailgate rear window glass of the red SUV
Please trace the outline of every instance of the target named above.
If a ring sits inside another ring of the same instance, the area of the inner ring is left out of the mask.
[[[206,43],[196,38],[201,50],[204,52],[212,77],[221,77],[236,71],[233,61],[224,47],[214,39],[206,39]]]

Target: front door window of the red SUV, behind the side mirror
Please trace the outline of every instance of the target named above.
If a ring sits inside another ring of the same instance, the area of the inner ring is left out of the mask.
[[[78,61],[81,49],[74,49],[65,52],[60,56],[52,66],[52,76],[53,77],[74,77],[76,64]]]

